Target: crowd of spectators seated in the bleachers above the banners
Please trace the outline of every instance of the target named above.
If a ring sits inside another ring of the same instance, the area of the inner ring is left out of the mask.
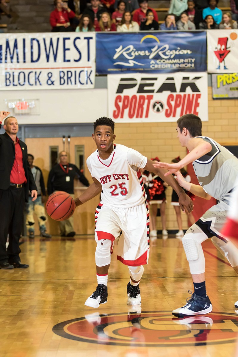
[[[219,0],[171,0],[164,21],[148,0],[55,0],[50,14],[53,32],[58,31],[153,31],[237,29],[238,0],[231,11],[222,11]]]

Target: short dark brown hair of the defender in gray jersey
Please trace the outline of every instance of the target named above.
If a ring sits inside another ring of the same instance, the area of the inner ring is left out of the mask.
[[[182,133],[183,128],[189,131],[191,137],[202,135],[202,120],[195,114],[185,114],[177,120],[179,131]]]

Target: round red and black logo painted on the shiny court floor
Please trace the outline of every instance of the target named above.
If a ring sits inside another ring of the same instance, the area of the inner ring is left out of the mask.
[[[71,340],[116,346],[213,345],[236,341],[238,315],[211,312],[177,318],[171,311],[95,312],[58,323],[53,332]]]

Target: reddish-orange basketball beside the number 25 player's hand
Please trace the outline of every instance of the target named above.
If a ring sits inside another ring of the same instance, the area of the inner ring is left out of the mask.
[[[46,201],[46,212],[55,221],[64,221],[71,217],[75,207],[74,199],[64,191],[52,193]]]

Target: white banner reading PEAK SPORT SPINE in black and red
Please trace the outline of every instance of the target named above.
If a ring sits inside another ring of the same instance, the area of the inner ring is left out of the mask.
[[[107,92],[115,122],[176,122],[188,113],[208,121],[206,72],[111,74]]]

